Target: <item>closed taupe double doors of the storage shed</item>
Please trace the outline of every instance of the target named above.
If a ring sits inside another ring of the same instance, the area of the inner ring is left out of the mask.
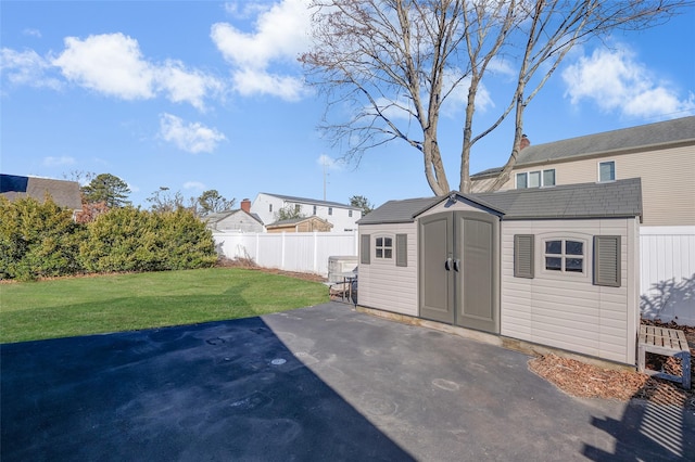
[[[419,220],[420,317],[500,333],[500,221],[479,211]]]

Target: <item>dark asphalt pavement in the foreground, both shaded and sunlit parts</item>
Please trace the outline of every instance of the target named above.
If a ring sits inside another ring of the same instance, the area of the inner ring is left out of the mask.
[[[695,460],[693,412],[337,303],[0,354],[2,461]]]

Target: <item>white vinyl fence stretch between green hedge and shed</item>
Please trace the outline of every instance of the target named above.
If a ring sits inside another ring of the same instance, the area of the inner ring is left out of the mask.
[[[356,256],[357,231],[298,233],[213,233],[217,253],[253,258],[256,265],[328,275],[328,257]]]

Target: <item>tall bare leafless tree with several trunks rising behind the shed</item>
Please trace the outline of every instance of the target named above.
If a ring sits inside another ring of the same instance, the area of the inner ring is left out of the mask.
[[[523,112],[568,51],[615,29],[667,21],[687,0],[314,0],[314,47],[300,56],[328,100],[323,125],[346,157],[403,140],[421,154],[432,191],[450,192],[438,128],[443,104],[463,91],[459,191],[470,191],[471,147],[514,114],[509,161],[491,189],[509,177]],[[473,133],[481,86],[492,64],[511,65],[516,85],[497,118]],[[329,118],[351,107],[348,120]]]

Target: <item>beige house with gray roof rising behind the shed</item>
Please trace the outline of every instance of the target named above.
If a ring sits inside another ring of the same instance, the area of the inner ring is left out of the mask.
[[[485,191],[500,171],[471,175],[471,191]],[[695,116],[529,145],[500,190],[626,178],[642,178],[643,226],[695,226]]]

